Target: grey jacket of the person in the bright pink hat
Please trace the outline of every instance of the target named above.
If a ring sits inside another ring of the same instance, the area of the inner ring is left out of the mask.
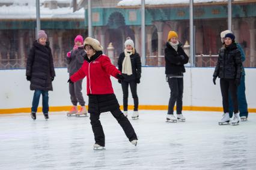
[[[67,63],[69,64],[67,66],[67,71],[70,75],[74,74],[79,70],[79,68],[81,68],[84,63],[85,55],[86,52],[84,47],[78,47],[78,49],[71,51],[71,57],[67,57]]]

